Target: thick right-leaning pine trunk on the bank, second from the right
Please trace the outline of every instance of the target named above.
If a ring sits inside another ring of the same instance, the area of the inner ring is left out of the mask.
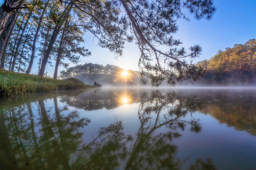
[[[54,28],[54,31],[51,35],[51,39],[50,39],[50,42],[49,42],[49,45],[48,45],[48,48],[47,48],[46,53],[44,55],[44,58],[42,60],[41,68],[40,68],[40,71],[38,73],[39,76],[44,75],[44,70],[45,70],[46,64],[48,62],[52,47],[53,47],[53,45],[56,41],[56,38],[57,38],[59,32],[61,31],[61,27],[64,23],[64,20],[69,16],[72,7],[73,7],[73,4],[67,5],[67,7],[65,8],[65,10],[62,12],[62,14],[60,16],[58,24]]]

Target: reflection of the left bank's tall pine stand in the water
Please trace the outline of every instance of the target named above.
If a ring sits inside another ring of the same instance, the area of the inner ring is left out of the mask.
[[[58,108],[56,97],[54,110],[46,110],[44,100],[2,110],[2,169],[70,169],[69,161],[82,143],[79,128],[90,120],[79,118],[77,111],[62,115],[68,109]]]

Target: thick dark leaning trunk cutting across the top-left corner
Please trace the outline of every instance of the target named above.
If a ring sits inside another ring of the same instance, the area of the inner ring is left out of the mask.
[[[13,11],[23,7],[25,0],[5,0],[0,7],[0,35]]]

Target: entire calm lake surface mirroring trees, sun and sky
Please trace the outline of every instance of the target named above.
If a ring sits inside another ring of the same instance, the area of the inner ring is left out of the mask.
[[[112,88],[0,101],[1,170],[256,170],[256,90]]]

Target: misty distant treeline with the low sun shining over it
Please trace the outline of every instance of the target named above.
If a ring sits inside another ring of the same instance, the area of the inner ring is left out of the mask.
[[[84,83],[92,85],[95,81],[102,85],[140,85],[140,72],[127,70],[128,75],[123,77],[123,71],[124,69],[115,65],[85,63],[61,71],[60,77],[61,79],[76,77]]]

